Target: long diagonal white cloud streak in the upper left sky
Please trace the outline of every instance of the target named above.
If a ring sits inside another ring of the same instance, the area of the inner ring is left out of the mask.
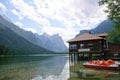
[[[12,11],[15,15],[26,17],[42,26],[50,25],[46,18],[43,18],[39,13],[36,12],[34,6],[25,3],[23,0],[11,0],[11,3],[16,8],[16,10]]]

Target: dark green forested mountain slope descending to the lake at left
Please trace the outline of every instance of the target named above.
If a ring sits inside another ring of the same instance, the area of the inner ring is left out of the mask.
[[[24,39],[5,25],[0,23],[0,54],[4,51],[1,46],[9,50],[10,55],[29,55],[29,54],[44,54],[53,53],[38,45],[35,45]]]

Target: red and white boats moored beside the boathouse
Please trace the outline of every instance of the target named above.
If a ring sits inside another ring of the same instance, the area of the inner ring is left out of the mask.
[[[83,66],[91,69],[102,69],[102,70],[120,70],[120,62],[114,60],[91,60],[83,63]]]

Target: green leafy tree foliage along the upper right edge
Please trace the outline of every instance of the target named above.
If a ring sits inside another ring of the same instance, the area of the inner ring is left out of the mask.
[[[100,0],[99,5],[106,6],[105,12],[108,18],[114,23],[113,31],[109,32],[107,40],[120,44],[120,0]]]

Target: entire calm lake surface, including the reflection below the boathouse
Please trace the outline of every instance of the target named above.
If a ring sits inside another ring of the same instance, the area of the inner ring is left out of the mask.
[[[91,70],[68,55],[0,57],[0,80],[119,80],[120,71]]]

